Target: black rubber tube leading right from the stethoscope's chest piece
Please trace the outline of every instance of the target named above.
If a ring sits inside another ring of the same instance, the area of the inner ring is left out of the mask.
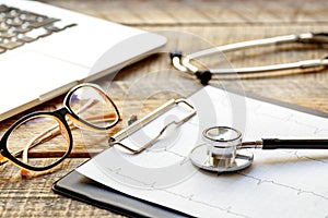
[[[262,149],[328,149],[328,140],[262,138]]]

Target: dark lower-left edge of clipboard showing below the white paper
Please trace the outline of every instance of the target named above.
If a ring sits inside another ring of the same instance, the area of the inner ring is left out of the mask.
[[[142,201],[71,171],[52,184],[57,194],[128,217],[190,217],[180,211]]]

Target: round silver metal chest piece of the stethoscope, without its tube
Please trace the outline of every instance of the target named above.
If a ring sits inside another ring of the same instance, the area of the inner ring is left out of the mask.
[[[232,172],[245,169],[253,162],[254,155],[248,149],[237,149],[242,133],[226,126],[214,126],[203,131],[206,143],[195,147],[191,162],[204,170]]]

